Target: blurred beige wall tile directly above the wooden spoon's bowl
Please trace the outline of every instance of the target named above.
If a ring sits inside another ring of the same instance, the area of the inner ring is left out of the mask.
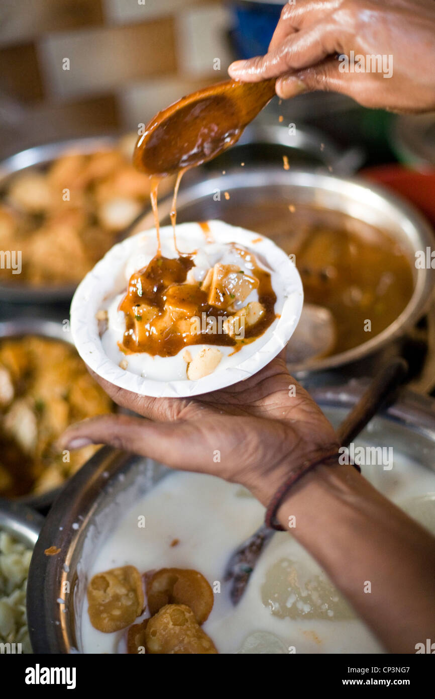
[[[122,124],[137,129],[180,97],[204,87],[207,80],[180,80],[177,76],[128,85],[118,93]]]

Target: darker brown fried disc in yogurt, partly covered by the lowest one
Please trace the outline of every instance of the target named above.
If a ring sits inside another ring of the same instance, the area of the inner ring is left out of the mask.
[[[212,611],[213,590],[198,570],[162,568],[147,579],[146,584],[152,617],[165,605],[187,605],[198,624],[204,624]]]

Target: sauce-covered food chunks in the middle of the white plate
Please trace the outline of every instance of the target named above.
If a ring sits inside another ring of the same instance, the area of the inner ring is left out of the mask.
[[[275,319],[277,297],[270,273],[258,266],[253,253],[239,245],[228,246],[226,252],[238,264],[218,261],[204,269],[190,256],[154,257],[147,267],[135,272],[119,304],[126,322],[119,343],[121,352],[174,356],[186,345],[237,348],[237,343],[249,343],[263,334]],[[246,303],[251,294],[258,297],[256,313],[249,312],[250,304]],[[212,357],[202,354],[196,366],[197,378],[216,368],[219,356]]]

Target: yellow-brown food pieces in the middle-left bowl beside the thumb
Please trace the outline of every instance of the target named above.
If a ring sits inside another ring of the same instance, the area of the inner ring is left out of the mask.
[[[0,341],[0,496],[59,487],[98,447],[59,452],[73,422],[112,412],[113,404],[74,347],[37,336]]]

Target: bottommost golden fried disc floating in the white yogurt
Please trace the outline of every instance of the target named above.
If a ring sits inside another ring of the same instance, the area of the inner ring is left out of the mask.
[[[212,639],[198,626],[195,614],[186,605],[165,605],[149,619],[145,629],[147,653],[216,654]]]

